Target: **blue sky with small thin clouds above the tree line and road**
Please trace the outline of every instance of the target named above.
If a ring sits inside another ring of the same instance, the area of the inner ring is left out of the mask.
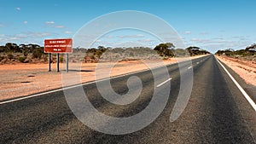
[[[256,43],[255,0],[212,1],[61,1],[3,0],[0,6],[0,44],[38,43],[45,38],[73,37],[96,17],[120,10],[138,10],[166,20],[183,38],[186,46],[217,49],[244,49]],[[125,33],[126,32],[126,33]],[[148,45],[151,36],[141,32],[113,32],[115,37],[141,38]],[[111,34],[106,35],[113,37]],[[104,46],[107,38],[97,40]],[[108,40],[111,41],[111,40]],[[113,40],[112,40],[113,42]]]

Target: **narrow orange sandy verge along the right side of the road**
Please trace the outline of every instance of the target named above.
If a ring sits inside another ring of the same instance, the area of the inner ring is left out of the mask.
[[[256,86],[256,61],[239,60],[227,56],[217,56],[227,66],[235,71],[247,84]]]

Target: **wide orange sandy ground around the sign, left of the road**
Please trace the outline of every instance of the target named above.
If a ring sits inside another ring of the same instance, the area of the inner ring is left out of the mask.
[[[195,59],[200,56],[192,57]],[[165,60],[164,64],[176,63],[177,60]],[[62,88],[62,86],[81,84],[96,79],[118,76],[129,72],[142,71],[148,68],[159,66],[155,61],[147,61],[148,67],[143,61],[131,60],[116,63],[112,69],[108,70],[110,63],[70,63],[70,71],[65,72],[65,64],[60,64],[63,71],[56,72],[56,64],[52,64],[52,72],[48,72],[48,64],[6,64],[0,65],[0,101],[12,99],[24,95],[32,95],[50,89]],[[75,70],[75,71],[74,71]],[[110,73],[109,73],[110,71]],[[100,76],[96,77],[96,72]],[[103,75],[102,73],[105,73]],[[107,72],[107,75],[106,75]],[[62,73],[62,74],[61,74]],[[63,77],[63,79],[62,79]],[[68,80],[67,80],[68,79]]]

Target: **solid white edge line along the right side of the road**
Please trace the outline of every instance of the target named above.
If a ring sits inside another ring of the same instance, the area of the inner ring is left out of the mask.
[[[254,103],[254,101],[251,99],[251,97],[249,95],[247,95],[247,92],[241,88],[241,85],[238,84],[236,82],[236,79],[232,77],[232,75],[230,74],[230,72],[223,66],[223,64],[221,62],[219,62],[219,60],[215,57],[215,59],[218,61],[218,63],[220,64],[220,66],[222,66],[224,68],[224,71],[228,73],[228,75],[230,76],[230,78],[232,79],[232,81],[236,84],[236,87],[241,91],[241,94],[244,95],[244,97],[247,99],[247,101],[250,103],[250,105],[253,107],[253,109],[256,112],[256,104]]]

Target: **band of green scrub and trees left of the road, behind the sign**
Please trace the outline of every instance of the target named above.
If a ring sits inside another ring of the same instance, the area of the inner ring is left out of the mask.
[[[160,43],[154,49],[145,47],[134,48],[105,48],[98,46],[97,48],[76,48],[73,54],[69,55],[72,62],[98,62],[109,60],[155,60],[168,59],[171,57],[193,56],[209,54],[206,50],[198,47],[189,47],[187,49],[176,49],[173,43]],[[15,61],[21,63],[37,63],[48,62],[49,55],[44,53],[44,47],[38,44],[16,44],[6,43],[0,46],[0,63],[13,63]],[[60,61],[65,62],[65,56],[60,55]],[[52,55],[51,62],[56,62],[56,55]]]

